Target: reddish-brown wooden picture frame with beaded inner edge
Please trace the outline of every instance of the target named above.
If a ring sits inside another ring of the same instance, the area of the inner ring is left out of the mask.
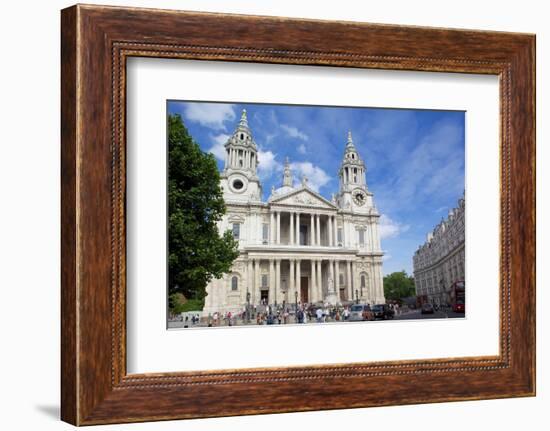
[[[81,5],[63,10],[61,21],[64,421],[91,425],[535,394],[533,35]],[[497,75],[499,355],[127,374],[125,98],[132,56]],[[338,393],[331,390],[331,382],[344,380]]]

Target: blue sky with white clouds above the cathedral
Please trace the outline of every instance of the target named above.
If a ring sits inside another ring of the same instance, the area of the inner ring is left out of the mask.
[[[465,116],[462,111],[318,107],[169,101],[191,136],[223,169],[223,144],[242,109],[259,148],[264,199],[282,183],[285,157],[295,181],[326,198],[338,191],[348,130],[367,166],[367,185],[382,217],[384,274],[406,270],[426,234],[464,191]]]

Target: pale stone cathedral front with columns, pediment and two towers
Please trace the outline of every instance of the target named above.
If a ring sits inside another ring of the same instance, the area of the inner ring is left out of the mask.
[[[384,303],[380,215],[366,183],[365,163],[348,133],[337,194],[326,199],[307,178],[295,182],[288,158],[281,187],[262,201],[258,149],[246,111],[225,144],[221,187],[239,257],[207,286],[204,314],[247,305],[292,308],[299,303]]]

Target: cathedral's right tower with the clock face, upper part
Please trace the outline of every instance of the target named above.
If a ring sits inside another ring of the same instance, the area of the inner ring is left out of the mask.
[[[348,142],[338,174],[340,191],[337,199],[340,208],[359,214],[368,213],[373,207],[372,193],[367,187],[365,162],[359,157],[351,132],[348,132]]]

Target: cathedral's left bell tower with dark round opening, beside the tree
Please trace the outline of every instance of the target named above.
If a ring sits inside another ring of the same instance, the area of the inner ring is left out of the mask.
[[[225,168],[220,176],[226,200],[250,202],[261,199],[257,166],[258,149],[248,126],[246,109],[243,109],[237,128],[225,144]]]

